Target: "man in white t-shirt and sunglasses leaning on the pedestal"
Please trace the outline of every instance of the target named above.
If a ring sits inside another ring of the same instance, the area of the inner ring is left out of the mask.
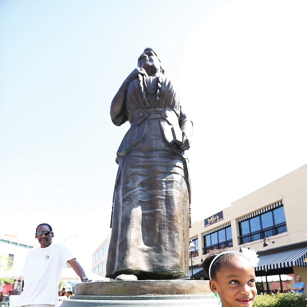
[[[52,228],[43,223],[36,228],[35,238],[41,247],[29,251],[22,275],[24,288],[18,306],[55,307],[58,303],[58,284],[62,268],[72,267],[82,282],[89,282],[76,258],[64,244],[51,244]]]

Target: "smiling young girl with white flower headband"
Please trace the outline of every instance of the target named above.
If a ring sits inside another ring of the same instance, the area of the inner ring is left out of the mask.
[[[255,251],[210,251],[202,263],[210,290],[220,297],[222,307],[252,307],[257,294]]]

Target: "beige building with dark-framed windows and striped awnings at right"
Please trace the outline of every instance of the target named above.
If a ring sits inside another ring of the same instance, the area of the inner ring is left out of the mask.
[[[259,254],[256,276],[294,274],[307,282],[306,216],[307,164],[193,223],[193,278],[205,278],[198,266],[208,250],[246,247]]]

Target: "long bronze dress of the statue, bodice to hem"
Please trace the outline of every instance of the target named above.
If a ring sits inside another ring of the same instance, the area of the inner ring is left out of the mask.
[[[117,152],[106,277],[182,278],[189,269],[190,184],[176,137],[188,119],[163,74],[139,75],[124,97],[125,109],[112,120],[131,127]]]

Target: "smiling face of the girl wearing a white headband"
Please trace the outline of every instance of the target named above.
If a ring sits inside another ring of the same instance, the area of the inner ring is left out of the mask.
[[[257,294],[255,279],[250,260],[237,256],[216,272],[209,285],[212,292],[218,291],[222,307],[251,307]]]

